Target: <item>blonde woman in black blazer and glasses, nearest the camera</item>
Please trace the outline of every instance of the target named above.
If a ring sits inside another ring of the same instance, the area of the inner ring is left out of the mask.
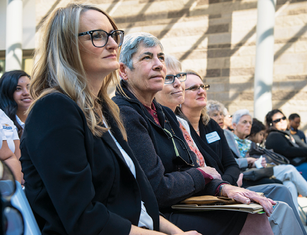
[[[20,160],[42,235],[183,234],[160,216],[107,94],[124,32],[100,7],[71,3],[39,33]]]

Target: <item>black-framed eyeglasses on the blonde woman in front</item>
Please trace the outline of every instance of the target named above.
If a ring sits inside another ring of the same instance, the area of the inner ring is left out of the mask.
[[[111,33],[107,33],[103,30],[91,30],[83,33],[79,33],[78,36],[83,36],[86,34],[91,35],[92,43],[96,48],[102,48],[106,45],[108,37],[111,36],[113,40],[121,46],[124,40],[124,31],[123,30],[114,30]]]

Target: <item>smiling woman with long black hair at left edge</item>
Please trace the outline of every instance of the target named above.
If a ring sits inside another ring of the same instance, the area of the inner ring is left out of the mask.
[[[6,72],[0,79],[0,108],[14,122],[19,138],[28,116],[26,112],[32,104],[29,84],[30,75],[23,70]]]

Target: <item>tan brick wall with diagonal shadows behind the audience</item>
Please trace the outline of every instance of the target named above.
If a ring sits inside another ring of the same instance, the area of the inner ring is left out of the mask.
[[[39,23],[67,1],[36,0]],[[48,2],[48,7],[46,7]],[[253,113],[257,1],[96,0],[126,34],[149,32],[176,56],[184,69],[199,72],[211,85],[208,99],[233,113]],[[43,6],[43,8],[41,8]],[[44,10],[41,10],[44,9]],[[307,2],[278,0],[275,17],[273,107],[301,115],[307,130]]]

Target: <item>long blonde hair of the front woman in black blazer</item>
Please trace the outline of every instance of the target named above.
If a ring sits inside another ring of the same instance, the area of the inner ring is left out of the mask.
[[[78,45],[80,15],[87,10],[101,12],[109,19],[114,30],[118,29],[111,16],[96,5],[70,3],[66,7],[54,10],[39,30],[41,39],[35,51],[36,63],[30,86],[30,93],[35,101],[29,111],[42,97],[54,92],[63,93],[75,101],[84,112],[93,135],[101,136],[107,130],[99,125],[103,120],[102,107],[91,92]],[[107,94],[111,82],[118,81],[117,71],[106,76],[98,97],[105,103],[124,139],[127,140],[119,108]]]

